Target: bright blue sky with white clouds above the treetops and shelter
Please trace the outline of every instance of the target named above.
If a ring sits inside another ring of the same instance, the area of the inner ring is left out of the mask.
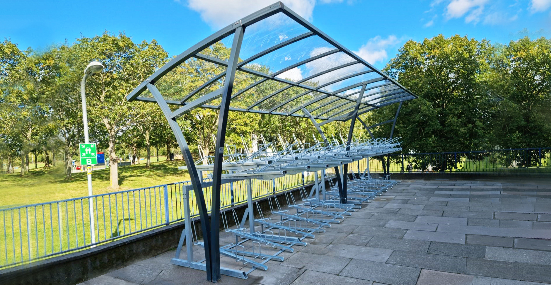
[[[171,56],[274,0],[0,0],[0,39],[41,50],[108,30],[155,39]],[[507,44],[551,37],[551,0],[287,0],[288,7],[382,68],[409,39],[444,34]]]

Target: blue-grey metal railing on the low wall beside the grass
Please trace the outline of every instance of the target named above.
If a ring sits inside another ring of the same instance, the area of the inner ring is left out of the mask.
[[[334,175],[334,172],[328,170],[327,174]],[[253,198],[274,195],[312,181],[314,173],[286,175],[274,180],[253,179]],[[183,221],[182,191],[187,185],[191,182],[91,196],[94,244],[90,235],[90,197],[0,209],[0,270]],[[212,193],[209,188],[203,189],[208,207]],[[247,201],[246,181],[223,184],[221,191],[221,208]],[[190,194],[191,214],[195,217],[198,216],[195,194],[193,191]]]

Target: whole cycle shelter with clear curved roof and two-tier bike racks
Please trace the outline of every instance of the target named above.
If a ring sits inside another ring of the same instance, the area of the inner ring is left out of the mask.
[[[235,21],[172,58],[126,98],[160,106],[191,177],[191,185],[183,195],[186,228],[172,263],[204,270],[207,280],[212,282],[217,282],[221,273],[246,278],[250,270],[267,270],[268,260],[283,260],[280,252],[304,246],[306,238],[339,223],[361,202],[396,183],[371,179],[365,173],[359,180],[349,182],[348,175],[344,175],[349,163],[401,150],[392,135],[386,139],[355,139],[356,119],[377,108],[397,103],[401,106],[403,101],[415,98],[396,80],[281,2]],[[197,161],[176,122],[196,108],[219,112],[215,152]],[[277,145],[266,142],[254,151],[238,153],[225,144],[229,111],[309,119],[322,141],[314,144],[282,141]],[[393,119],[381,123],[392,123],[393,130],[398,112],[399,107]],[[327,138],[321,129],[329,122],[349,120],[346,138]],[[376,126],[360,122],[368,132]],[[338,177],[331,189],[325,187],[327,169],[334,170]],[[204,171],[208,173],[206,178]],[[282,209],[276,197],[268,198],[272,216],[263,218],[258,204],[252,201],[251,181],[303,171],[315,171],[312,191],[301,189],[302,202],[285,194],[290,209]],[[238,180],[248,183],[249,208],[244,217],[236,217],[235,211],[220,211],[220,186]],[[209,205],[203,195],[207,187],[212,188]],[[201,242],[190,219],[190,207],[197,209],[201,219]],[[260,219],[254,217],[255,208]],[[249,223],[245,222],[247,216]],[[229,227],[228,221],[232,219],[235,227]],[[224,232],[220,232],[221,221]],[[220,240],[226,240],[227,234],[235,236],[235,240],[221,245]],[[183,243],[187,259],[180,258]],[[204,256],[198,260],[193,256],[193,245],[204,248]],[[251,269],[221,267],[220,256],[235,259]]]

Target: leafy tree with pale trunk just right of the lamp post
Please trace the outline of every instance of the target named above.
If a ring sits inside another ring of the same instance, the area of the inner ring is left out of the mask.
[[[105,66],[103,72],[88,78],[87,105],[89,120],[96,126],[101,123],[107,133],[110,188],[116,189],[117,138],[131,123],[128,114],[134,104],[127,102],[125,95],[158,69],[166,61],[167,53],[155,40],[134,44],[123,33],[113,35],[108,32],[93,38],[78,39],[71,50],[72,67],[81,74],[92,60],[98,60]]]

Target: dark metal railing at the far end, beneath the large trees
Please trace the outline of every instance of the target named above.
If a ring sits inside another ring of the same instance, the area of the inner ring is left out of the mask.
[[[392,153],[372,157],[371,172],[551,173],[551,148],[478,152]]]

